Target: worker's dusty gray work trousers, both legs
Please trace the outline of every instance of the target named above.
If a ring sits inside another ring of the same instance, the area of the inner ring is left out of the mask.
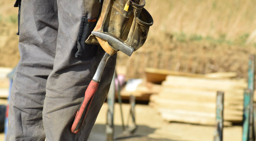
[[[7,141],[86,141],[106,99],[116,55],[104,69],[83,126],[70,127],[104,55],[85,44],[101,11],[99,0],[18,1],[19,52],[11,89]]]

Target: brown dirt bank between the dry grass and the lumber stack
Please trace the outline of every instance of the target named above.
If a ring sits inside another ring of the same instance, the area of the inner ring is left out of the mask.
[[[186,73],[205,74],[218,71],[236,72],[238,77],[247,78],[249,54],[255,47],[217,45],[207,42],[156,43],[150,38],[145,47],[131,57],[118,54],[117,65],[127,68],[128,78],[141,78],[146,67],[160,68]]]

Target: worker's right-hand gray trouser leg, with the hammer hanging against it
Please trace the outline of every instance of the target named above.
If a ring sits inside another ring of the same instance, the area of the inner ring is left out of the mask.
[[[86,141],[109,90],[115,58],[106,65],[99,88],[78,134],[70,131],[104,51],[85,44],[99,16],[99,0],[59,0],[58,38],[53,71],[47,79],[43,124],[47,141]],[[75,57],[77,56],[77,57]]]

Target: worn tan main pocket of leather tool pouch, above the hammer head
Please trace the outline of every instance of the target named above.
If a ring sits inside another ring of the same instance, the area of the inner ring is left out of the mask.
[[[127,0],[104,0],[101,16],[93,31],[108,32],[126,40],[133,20],[133,9],[124,10]],[[86,40],[88,44],[99,44],[92,34]]]

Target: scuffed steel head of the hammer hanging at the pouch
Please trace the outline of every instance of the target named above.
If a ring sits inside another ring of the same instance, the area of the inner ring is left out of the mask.
[[[111,46],[111,48],[113,48],[115,51],[124,52],[128,56],[131,56],[132,52],[134,52],[134,48],[127,45],[123,40],[115,37],[114,35],[112,35],[110,33],[92,31],[92,34],[96,37],[106,40],[109,43],[109,45]]]

